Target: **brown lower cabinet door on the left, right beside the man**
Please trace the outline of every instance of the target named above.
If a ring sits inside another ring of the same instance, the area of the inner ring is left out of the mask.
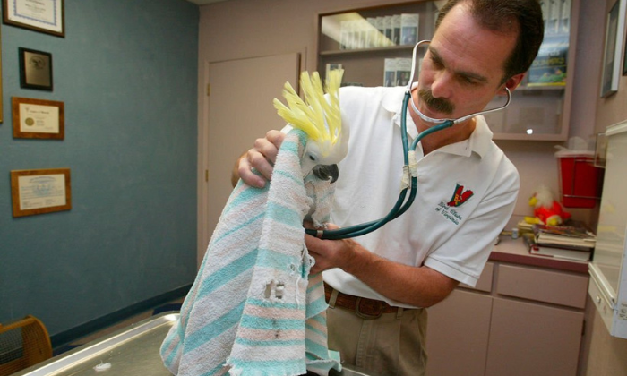
[[[429,308],[426,374],[483,376],[493,298],[454,290]]]

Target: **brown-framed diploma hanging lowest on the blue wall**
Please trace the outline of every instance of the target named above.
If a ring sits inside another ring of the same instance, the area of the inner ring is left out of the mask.
[[[11,171],[13,217],[72,209],[69,168]]]

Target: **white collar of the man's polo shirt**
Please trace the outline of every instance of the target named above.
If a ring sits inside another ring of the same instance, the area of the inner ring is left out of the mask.
[[[406,90],[407,88],[403,86],[393,88],[390,95],[385,96],[382,100],[382,107],[393,114],[392,120],[394,124],[398,126],[400,126],[400,116],[402,114],[403,99]],[[475,131],[472,132],[467,140],[451,143],[439,150],[466,157],[469,157],[474,151],[480,158],[483,158],[490,149],[493,133],[485,122],[483,115],[475,116],[475,120],[477,121]],[[416,139],[418,131],[414,120],[409,114],[407,114],[407,128],[408,136],[412,139]]]

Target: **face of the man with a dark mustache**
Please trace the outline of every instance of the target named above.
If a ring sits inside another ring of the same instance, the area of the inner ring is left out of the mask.
[[[454,6],[435,32],[420,70],[418,108],[434,118],[458,118],[481,111],[504,88],[513,90],[523,74],[502,84],[504,63],[516,32],[481,28],[467,11]]]

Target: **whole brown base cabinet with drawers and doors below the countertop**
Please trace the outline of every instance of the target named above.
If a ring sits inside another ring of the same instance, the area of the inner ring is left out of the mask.
[[[429,308],[427,376],[574,376],[588,276],[488,262]]]

